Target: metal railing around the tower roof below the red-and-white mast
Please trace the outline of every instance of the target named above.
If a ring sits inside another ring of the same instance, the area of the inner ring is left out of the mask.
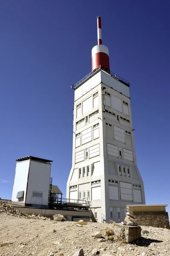
[[[95,73],[97,73],[98,70],[104,70],[105,72],[107,72],[109,75],[111,75],[112,77],[114,77],[118,81],[121,81],[123,84],[126,84],[127,86],[130,86],[130,83],[126,79],[122,78],[121,76],[116,75],[114,72],[106,69],[105,67],[101,67],[101,65],[99,65],[97,68],[95,68],[95,70],[91,71],[89,74],[84,76],[84,78],[82,78],[80,81],[78,81],[75,85],[72,84],[71,85],[72,89],[75,90],[81,83],[83,83],[84,81],[89,79],[91,76],[93,76]]]

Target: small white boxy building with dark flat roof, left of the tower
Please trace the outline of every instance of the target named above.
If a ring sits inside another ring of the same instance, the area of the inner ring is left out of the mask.
[[[32,156],[17,159],[12,202],[48,207],[51,162]]]

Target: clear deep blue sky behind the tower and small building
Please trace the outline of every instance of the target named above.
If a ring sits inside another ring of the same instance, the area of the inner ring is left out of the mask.
[[[75,84],[91,71],[97,44],[110,70],[130,81],[138,168],[147,204],[170,204],[170,2],[0,2],[0,196],[10,199],[15,159],[53,160],[64,196],[72,166]],[[170,207],[167,207],[167,210]]]

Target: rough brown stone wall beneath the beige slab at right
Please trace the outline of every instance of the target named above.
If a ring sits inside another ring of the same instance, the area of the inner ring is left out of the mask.
[[[141,226],[163,227],[170,229],[170,222],[167,212],[133,212]]]

